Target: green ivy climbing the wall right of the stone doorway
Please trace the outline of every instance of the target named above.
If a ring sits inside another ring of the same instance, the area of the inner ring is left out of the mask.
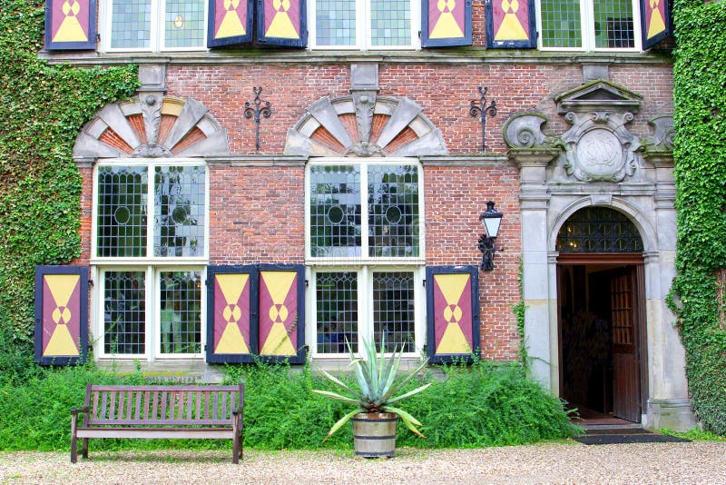
[[[726,331],[715,279],[726,268],[726,3],[676,0],[673,11],[678,276],[669,300],[693,411],[726,434]]]

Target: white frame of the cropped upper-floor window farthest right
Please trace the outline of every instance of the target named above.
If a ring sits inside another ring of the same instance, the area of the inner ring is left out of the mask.
[[[537,49],[545,52],[641,52],[643,51],[641,4],[640,0],[631,0],[633,8],[633,47],[595,47],[594,2],[588,0],[580,5],[580,35],[582,45],[579,47],[546,47],[542,29],[542,0],[536,0]]]

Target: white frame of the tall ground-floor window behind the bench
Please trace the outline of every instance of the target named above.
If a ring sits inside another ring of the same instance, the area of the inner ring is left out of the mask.
[[[98,256],[98,196],[99,196],[99,169],[107,166],[145,166],[147,168],[147,221],[146,221],[146,256]],[[158,166],[201,166],[204,168],[204,231],[203,255],[201,256],[153,256],[153,224],[154,224],[154,173]],[[164,353],[161,352],[161,272],[200,272],[201,282],[206,281],[206,268],[209,264],[210,248],[210,171],[206,162],[191,158],[120,158],[102,159],[93,166],[93,202],[91,221],[91,266],[93,285],[91,297],[92,328],[94,334],[94,353],[99,359],[120,359],[144,361],[173,361],[173,360],[203,360],[206,345],[207,326],[207,295],[201,289],[200,300],[200,351],[195,353]],[[104,292],[105,272],[135,271],[144,272],[144,304],[146,310],[144,322],[145,352],[142,354],[108,353],[104,349]],[[151,309],[151,312],[150,310]]]

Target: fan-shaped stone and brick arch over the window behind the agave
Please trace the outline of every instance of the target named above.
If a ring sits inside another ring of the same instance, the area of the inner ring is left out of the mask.
[[[310,104],[288,130],[285,154],[424,156],[446,154],[441,131],[406,97],[354,93]]]

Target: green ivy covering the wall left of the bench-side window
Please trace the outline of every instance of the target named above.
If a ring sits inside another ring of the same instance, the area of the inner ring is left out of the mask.
[[[33,355],[34,266],[80,255],[75,137],[104,104],[131,96],[136,66],[48,65],[44,2],[0,7],[0,371]]]

